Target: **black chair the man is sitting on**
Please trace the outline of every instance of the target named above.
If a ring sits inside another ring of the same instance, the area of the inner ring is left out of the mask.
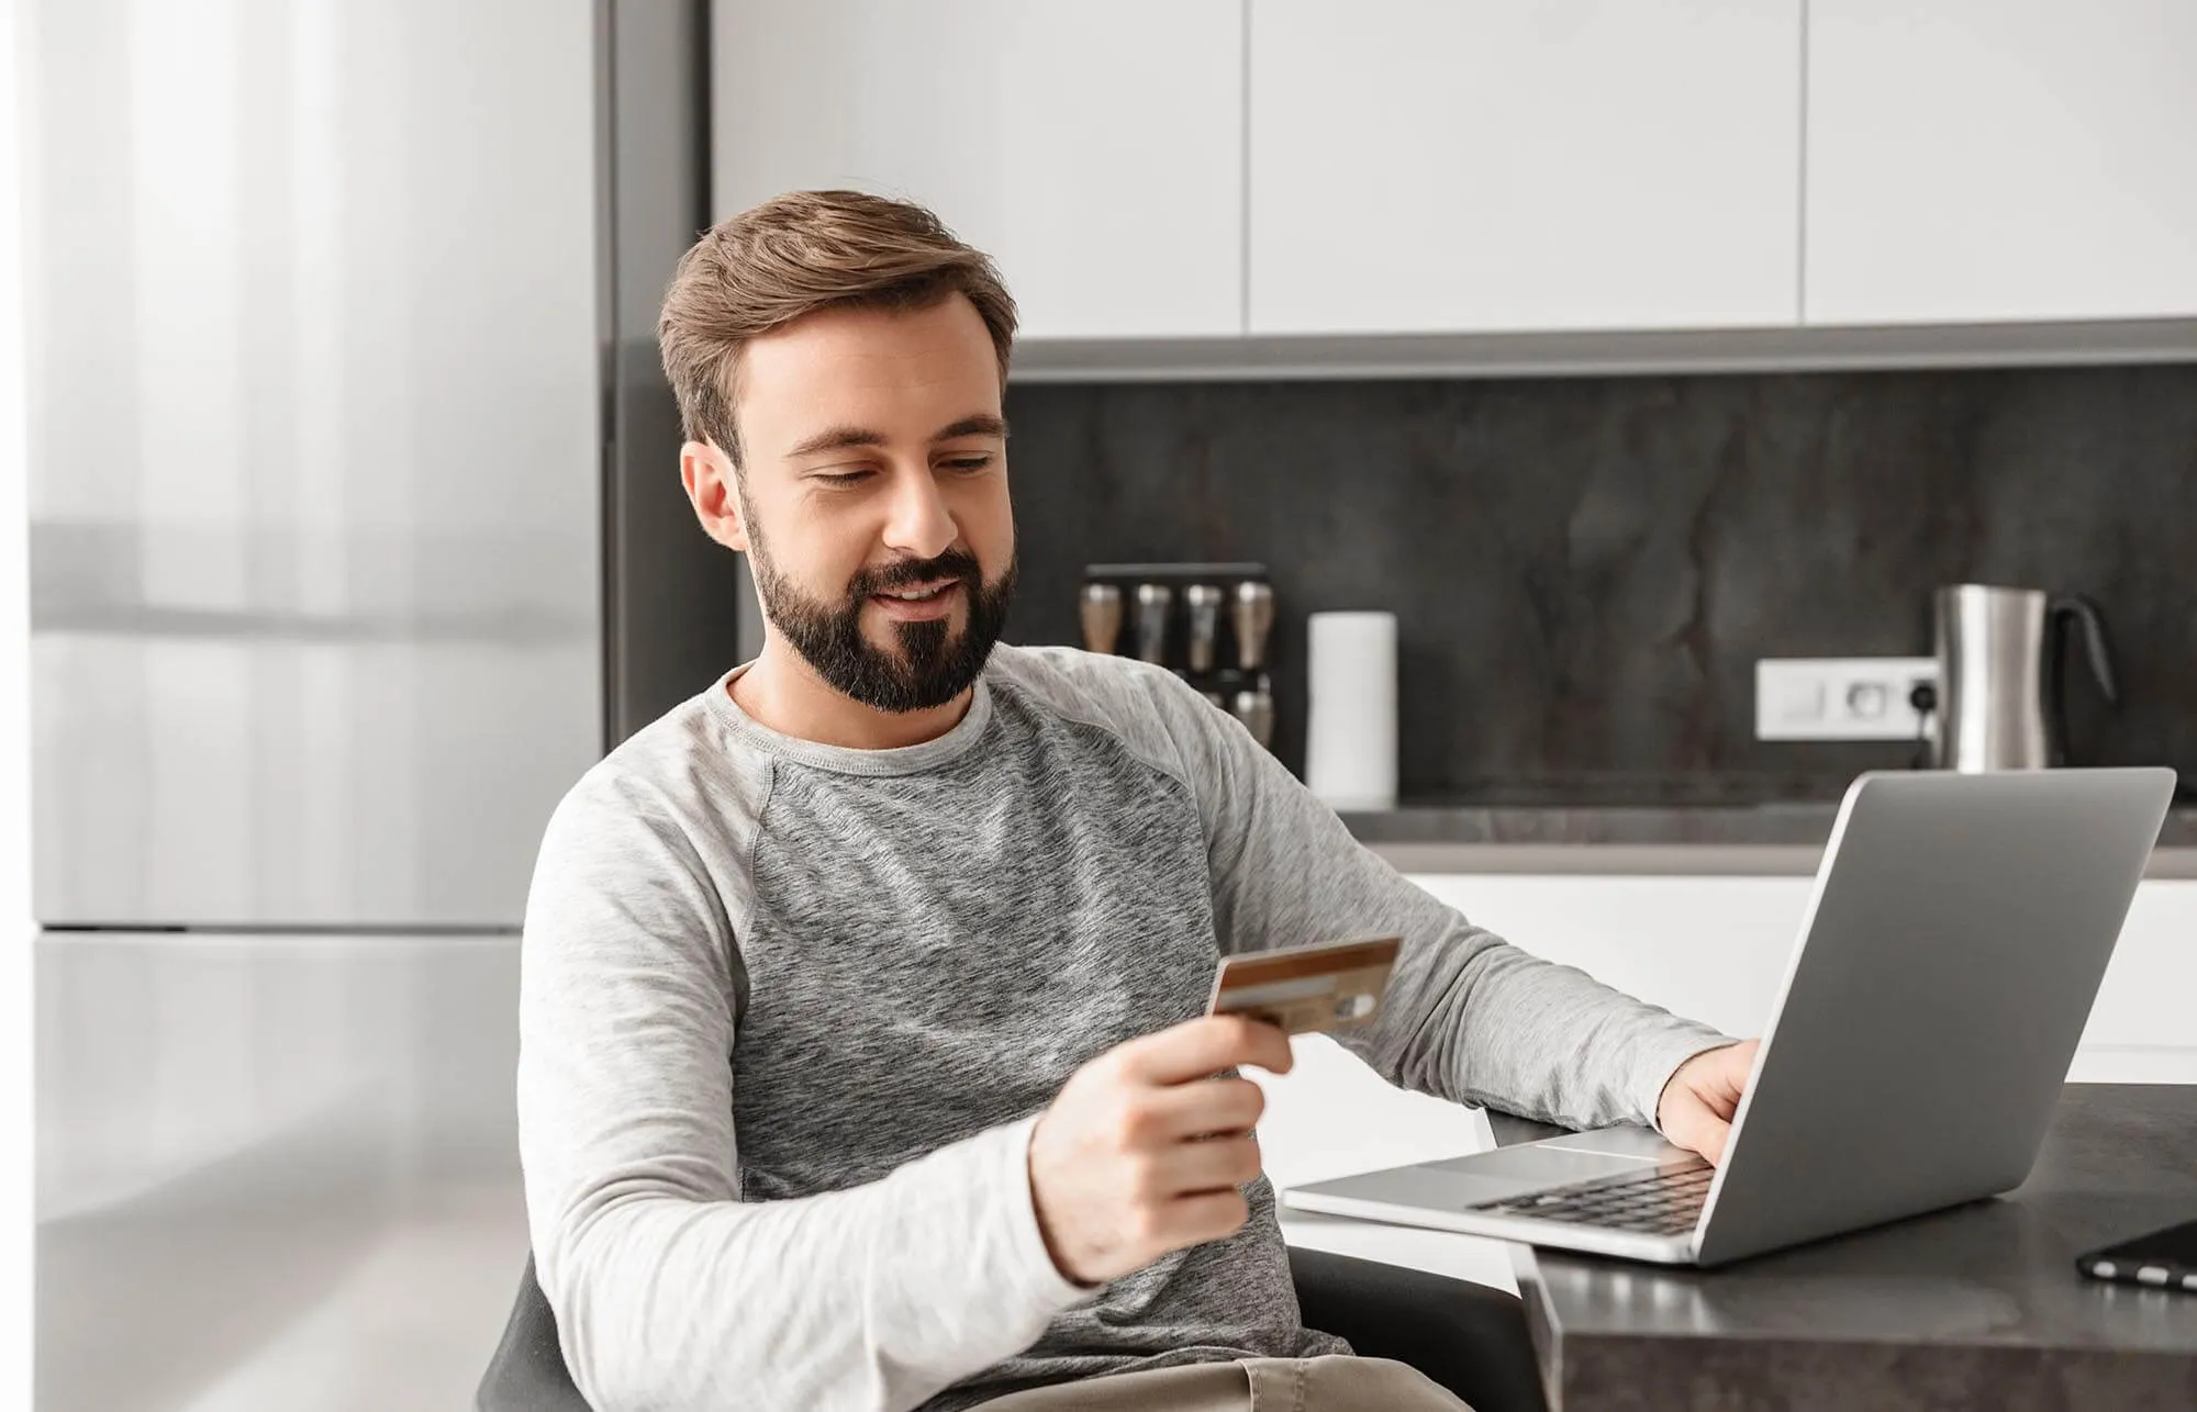
[[[1501,1289],[1320,1249],[1292,1249],[1290,1274],[1305,1324],[1347,1337],[1356,1353],[1410,1364],[1472,1412],[1547,1412],[1525,1307]],[[565,1370],[532,1256],[475,1408],[591,1412]]]

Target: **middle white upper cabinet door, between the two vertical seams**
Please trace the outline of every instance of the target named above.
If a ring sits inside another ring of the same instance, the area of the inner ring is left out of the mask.
[[[1250,332],[1791,325],[1799,0],[1250,0]]]

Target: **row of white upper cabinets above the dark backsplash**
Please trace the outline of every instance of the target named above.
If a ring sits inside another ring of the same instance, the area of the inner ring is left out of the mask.
[[[2193,72],[2197,0],[716,0],[714,209],[925,202],[1024,376],[2186,356]]]

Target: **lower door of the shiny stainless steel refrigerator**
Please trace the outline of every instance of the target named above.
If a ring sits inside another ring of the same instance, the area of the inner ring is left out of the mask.
[[[525,1263],[516,938],[37,942],[40,1412],[459,1412]]]

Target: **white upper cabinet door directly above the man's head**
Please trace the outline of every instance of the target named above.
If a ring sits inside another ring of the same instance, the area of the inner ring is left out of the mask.
[[[1030,338],[1244,332],[1239,0],[718,0],[712,209],[932,206]]]

